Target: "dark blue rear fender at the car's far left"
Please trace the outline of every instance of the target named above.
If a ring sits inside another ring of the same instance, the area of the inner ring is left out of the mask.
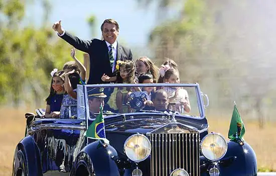
[[[15,150],[13,175],[18,171],[24,175],[43,175],[40,151],[32,136],[22,139]]]

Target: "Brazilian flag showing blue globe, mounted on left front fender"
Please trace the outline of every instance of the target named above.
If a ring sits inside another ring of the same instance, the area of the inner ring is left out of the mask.
[[[97,115],[96,119],[89,125],[88,129],[84,132],[84,136],[91,139],[100,139],[105,143],[109,143],[109,141],[105,138],[105,130],[104,130],[104,119],[102,116],[102,106],[100,107],[100,113]]]

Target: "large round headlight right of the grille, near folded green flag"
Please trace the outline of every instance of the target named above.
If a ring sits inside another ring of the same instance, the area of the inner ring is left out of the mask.
[[[216,161],[226,154],[227,141],[220,134],[210,133],[202,139],[200,147],[207,159]]]

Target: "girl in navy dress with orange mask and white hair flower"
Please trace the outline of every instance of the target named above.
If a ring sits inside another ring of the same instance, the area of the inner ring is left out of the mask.
[[[60,115],[61,102],[64,94],[64,71],[54,69],[51,72],[52,81],[50,87],[50,94],[46,99],[46,118],[57,118]]]

